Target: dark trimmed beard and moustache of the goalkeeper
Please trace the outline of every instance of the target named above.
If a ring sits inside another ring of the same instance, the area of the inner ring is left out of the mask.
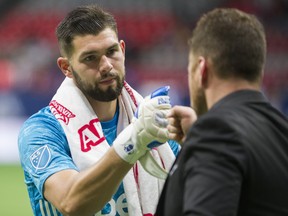
[[[77,87],[83,92],[83,94],[97,101],[109,102],[115,100],[121,94],[122,88],[124,86],[125,76],[120,77],[119,75],[114,74],[112,72],[109,72],[101,76],[101,78],[99,79],[102,80],[108,77],[113,77],[116,79],[117,83],[116,87],[108,86],[106,90],[102,90],[99,87],[98,82],[89,83],[88,81],[84,81],[83,79],[80,78],[78,73],[73,70],[73,68],[72,73],[73,76],[75,77],[75,83]]]

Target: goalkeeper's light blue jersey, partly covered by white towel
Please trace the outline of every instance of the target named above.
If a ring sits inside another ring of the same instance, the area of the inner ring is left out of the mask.
[[[101,123],[105,138],[110,145],[117,135],[117,122],[118,112],[111,121]],[[177,155],[179,145],[174,141],[169,144]],[[45,200],[44,182],[49,176],[61,170],[79,170],[72,160],[66,135],[49,107],[43,108],[24,123],[19,134],[18,147],[34,215],[62,215]],[[124,187],[121,184],[111,201],[102,209],[101,215],[128,215],[127,206]]]

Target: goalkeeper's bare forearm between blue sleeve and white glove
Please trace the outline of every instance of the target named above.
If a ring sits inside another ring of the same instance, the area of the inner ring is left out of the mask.
[[[110,148],[84,171],[64,170],[50,176],[44,196],[64,215],[92,215],[111,199],[131,167]]]

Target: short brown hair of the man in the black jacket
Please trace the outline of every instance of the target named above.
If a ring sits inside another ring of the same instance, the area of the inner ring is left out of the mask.
[[[189,40],[190,51],[213,62],[220,78],[255,82],[266,59],[263,25],[254,16],[233,8],[217,8],[203,15]]]

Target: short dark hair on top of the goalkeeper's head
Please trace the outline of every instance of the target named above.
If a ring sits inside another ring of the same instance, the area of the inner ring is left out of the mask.
[[[107,27],[118,35],[113,15],[97,5],[78,6],[69,12],[56,28],[61,55],[71,56],[75,36],[97,35]]]

